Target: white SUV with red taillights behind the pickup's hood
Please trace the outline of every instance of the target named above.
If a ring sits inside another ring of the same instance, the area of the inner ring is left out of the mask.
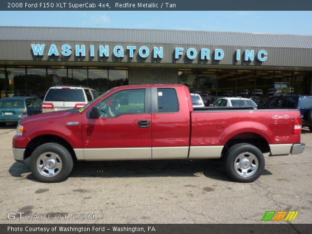
[[[80,109],[98,97],[97,91],[83,86],[66,85],[51,87],[45,94],[42,112]]]

